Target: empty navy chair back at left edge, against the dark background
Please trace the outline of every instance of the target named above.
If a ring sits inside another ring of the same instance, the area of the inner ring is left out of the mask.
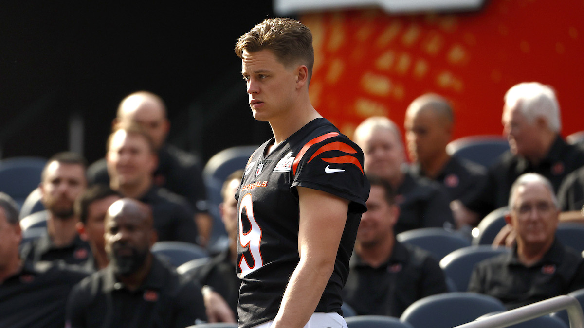
[[[0,191],[9,194],[21,207],[40,183],[47,160],[38,157],[13,157],[0,160]]]

